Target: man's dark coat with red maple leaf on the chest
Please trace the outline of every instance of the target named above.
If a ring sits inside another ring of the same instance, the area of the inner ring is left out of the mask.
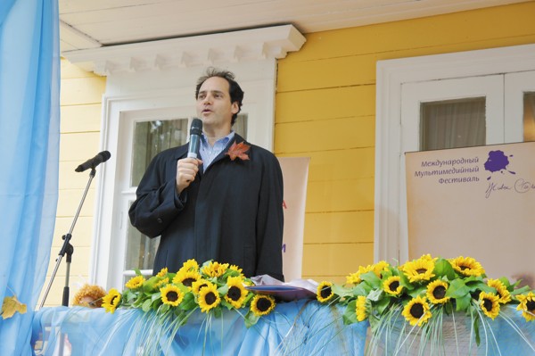
[[[225,153],[243,137],[235,135],[208,169],[177,195],[177,160],[188,145],[152,159],[129,210],[130,221],[149,237],[161,236],[153,273],[176,272],[184,261],[235,264],[247,277],[268,274],[284,280],[283,175],[273,153],[256,145],[249,160]]]

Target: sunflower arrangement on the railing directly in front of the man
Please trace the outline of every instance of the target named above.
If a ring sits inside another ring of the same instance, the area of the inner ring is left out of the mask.
[[[103,297],[103,308],[110,313],[118,308],[143,310],[140,324],[144,325],[144,338],[166,337],[170,345],[178,328],[185,325],[195,310],[201,310],[207,318],[219,318],[223,309],[235,310],[251,327],[275,309],[272,296],[253,294],[247,286],[253,283],[238,266],[218,261],[206,261],[199,266],[197,261],[188,260],[177,272],[164,268],[148,279],[136,270],[136,277],[128,280],[122,293],[111,288]],[[145,345],[149,350],[146,354],[160,347]]]

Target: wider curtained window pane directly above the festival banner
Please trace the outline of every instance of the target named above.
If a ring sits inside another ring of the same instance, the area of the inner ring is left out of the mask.
[[[485,98],[422,103],[420,149],[485,145]]]

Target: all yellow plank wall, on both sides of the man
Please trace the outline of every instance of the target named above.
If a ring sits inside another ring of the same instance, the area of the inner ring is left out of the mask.
[[[275,152],[311,157],[304,277],[341,282],[373,263],[375,63],[535,43],[535,2],[306,35],[279,62]],[[48,284],[100,147],[105,78],[62,61],[60,192]],[[98,175],[98,170],[97,170]],[[88,279],[96,179],[73,231],[70,300]],[[65,261],[46,305],[62,302]]]

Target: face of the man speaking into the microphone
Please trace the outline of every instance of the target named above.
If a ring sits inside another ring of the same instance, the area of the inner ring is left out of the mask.
[[[226,79],[211,77],[202,83],[197,96],[197,115],[203,128],[231,127],[232,115],[238,112],[238,104],[230,102]]]

